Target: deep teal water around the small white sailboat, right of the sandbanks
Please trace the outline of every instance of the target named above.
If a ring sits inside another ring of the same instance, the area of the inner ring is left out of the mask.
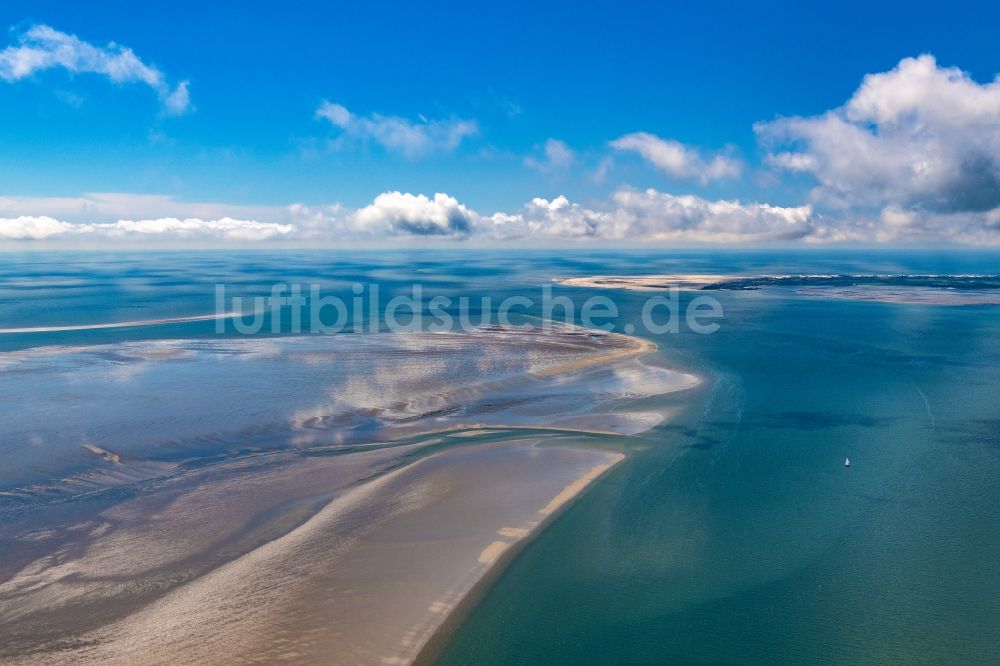
[[[710,386],[441,663],[1000,663],[1000,309],[723,300],[657,340]]]

